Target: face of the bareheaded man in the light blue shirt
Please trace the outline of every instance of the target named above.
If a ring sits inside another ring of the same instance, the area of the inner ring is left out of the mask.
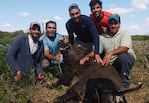
[[[48,23],[46,33],[48,34],[48,36],[54,37],[56,34],[56,25],[54,23]]]

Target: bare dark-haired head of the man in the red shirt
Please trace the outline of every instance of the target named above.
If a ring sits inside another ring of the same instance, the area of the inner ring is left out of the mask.
[[[101,18],[102,16],[102,2],[100,0],[91,0],[89,3],[91,12],[95,18]]]

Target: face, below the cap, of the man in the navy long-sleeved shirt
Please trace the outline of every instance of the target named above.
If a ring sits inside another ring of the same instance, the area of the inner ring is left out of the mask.
[[[69,12],[70,17],[73,19],[74,22],[79,22],[80,21],[80,9],[72,9]]]

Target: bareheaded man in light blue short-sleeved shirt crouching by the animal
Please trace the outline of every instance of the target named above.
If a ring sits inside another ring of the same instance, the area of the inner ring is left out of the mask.
[[[60,43],[67,43],[68,40],[56,32],[56,22],[46,22],[46,34],[40,37],[44,45],[44,57],[42,67],[47,68],[50,64],[60,64],[63,62],[63,56],[60,54]]]

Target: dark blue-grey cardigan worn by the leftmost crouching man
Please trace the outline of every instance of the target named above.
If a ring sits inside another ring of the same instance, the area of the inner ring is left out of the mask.
[[[28,75],[30,69],[34,68],[36,73],[42,73],[41,60],[43,56],[43,45],[38,42],[37,51],[34,55],[30,53],[28,35],[19,35],[12,43],[6,58],[11,65],[12,74],[15,75],[16,71],[21,70],[23,75]]]

